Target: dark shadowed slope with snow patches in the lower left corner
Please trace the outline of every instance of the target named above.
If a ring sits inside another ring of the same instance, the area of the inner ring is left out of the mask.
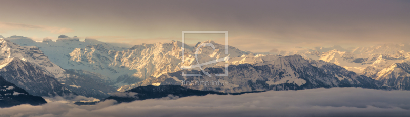
[[[45,103],[47,102],[42,97],[30,95],[24,89],[0,76],[0,108],[20,104],[40,105]]]

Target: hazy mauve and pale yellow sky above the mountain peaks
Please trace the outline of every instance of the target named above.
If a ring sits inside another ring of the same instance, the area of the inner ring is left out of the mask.
[[[410,43],[410,1],[3,1],[0,35],[64,34],[131,44],[182,40],[182,31],[228,31],[229,45],[298,47]],[[192,43],[223,35],[187,36]]]

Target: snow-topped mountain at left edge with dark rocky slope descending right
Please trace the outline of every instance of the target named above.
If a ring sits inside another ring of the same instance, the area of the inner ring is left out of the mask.
[[[110,96],[108,93],[115,92],[113,87],[105,85],[104,82],[67,71],[54,64],[36,46],[20,46],[5,39],[0,39],[0,44],[0,61],[3,61],[0,66],[1,75],[30,94],[63,96],[74,91],[79,95],[105,98]]]

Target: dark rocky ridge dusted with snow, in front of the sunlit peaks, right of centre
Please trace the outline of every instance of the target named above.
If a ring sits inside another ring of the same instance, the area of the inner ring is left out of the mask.
[[[206,72],[224,73],[224,68],[206,68]],[[381,89],[377,81],[357,75],[335,64],[324,61],[306,61],[300,55],[279,57],[265,65],[239,64],[228,67],[228,76],[182,76],[185,73],[199,73],[197,70],[183,70],[163,74],[158,78],[148,78],[137,84],[123,86],[119,91],[127,91],[140,85],[182,85],[196,90],[237,93],[266,90],[301,90],[318,87],[364,87]],[[208,81],[216,84],[197,85]],[[217,81],[217,82],[214,82]],[[219,81],[219,82],[218,82]],[[222,83],[223,82],[223,83]],[[227,85],[222,85],[222,84]]]

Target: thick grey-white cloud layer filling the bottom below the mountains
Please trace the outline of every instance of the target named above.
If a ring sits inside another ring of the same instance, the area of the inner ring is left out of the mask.
[[[93,106],[51,102],[0,109],[5,116],[408,116],[410,91],[360,88],[163,98]]]

